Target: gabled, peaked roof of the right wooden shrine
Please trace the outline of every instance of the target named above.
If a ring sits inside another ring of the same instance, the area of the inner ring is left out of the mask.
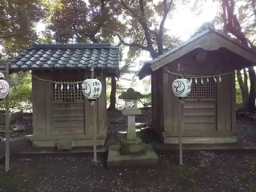
[[[214,37],[214,38],[211,38]],[[212,39],[215,39],[214,41]],[[236,39],[231,38],[225,33],[216,29],[204,29],[192,35],[188,40],[182,42],[175,48],[166,51],[165,53],[155,57],[154,59],[144,63],[139,70],[137,76],[143,79],[147,75],[151,75],[153,71],[167,65],[168,63],[184,56],[185,54],[201,48],[206,51],[214,51],[220,48],[231,51],[233,54],[240,55],[244,58],[244,62],[238,69],[245,67],[255,66],[256,64],[256,51],[242,45]],[[158,65],[158,63],[161,63]],[[235,65],[232,65],[233,67]],[[230,66],[230,71],[235,70]]]

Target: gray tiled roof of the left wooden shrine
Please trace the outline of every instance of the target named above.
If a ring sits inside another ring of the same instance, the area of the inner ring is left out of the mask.
[[[10,70],[87,68],[119,69],[119,47],[111,44],[36,44],[8,61]]]

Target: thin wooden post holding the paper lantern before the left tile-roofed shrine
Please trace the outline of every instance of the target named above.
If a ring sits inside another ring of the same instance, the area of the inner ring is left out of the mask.
[[[94,78],[94,63],[91,63],[91,78]],[[97,165],[97,121],[96,121],[96,106],[94,101],[91,101],[91,105],[93,106],[93,122],[94,122],[94,129],[93,129],[93,162]]]

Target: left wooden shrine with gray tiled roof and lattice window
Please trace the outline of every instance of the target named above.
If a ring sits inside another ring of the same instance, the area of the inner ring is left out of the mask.
[[[33,146],[92,146],[93,108],[81,82],[95,76],[102,83],[96,101],[97,145],[107,127],[106,77],[118,76],[119,48],[111,44],[37,44],[9,61],[10,72],[32,71]]]

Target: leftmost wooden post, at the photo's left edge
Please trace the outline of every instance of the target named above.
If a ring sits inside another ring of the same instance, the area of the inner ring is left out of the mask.
[[[9,65],[6,64],[6,81],[9,82]],[[9,93],[6,96],[5,103],[5,172],[10,170],[10,108],[9,108]]]

